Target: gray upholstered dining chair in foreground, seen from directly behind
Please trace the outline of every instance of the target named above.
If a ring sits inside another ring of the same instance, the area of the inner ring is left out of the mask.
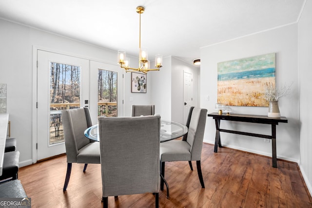
[[[151,192],[158,207],[160,116],[98,118],[102,200]]]

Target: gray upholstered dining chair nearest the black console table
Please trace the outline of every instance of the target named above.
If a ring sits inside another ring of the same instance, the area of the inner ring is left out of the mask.
[[[189,161],[191,170],[192,162],[196,161],[198,178],[202,188],[205,188],[200,167],[201,150],[203,145],[206,125],[207,109],[191,107],[186,126],[189,131],[182,140],[171,140],[160,143],[160,171],[165,176],[165,162]],[[163,190],[164,181],[161,180],[160,189]]]

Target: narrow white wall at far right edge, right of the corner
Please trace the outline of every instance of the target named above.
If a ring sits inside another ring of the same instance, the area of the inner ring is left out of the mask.
[[[298,23],[298,68],[299,68],[299,149],[300,170],[312,193],[312,103],[311,58],[312,58],[312,1],[307,0]]]

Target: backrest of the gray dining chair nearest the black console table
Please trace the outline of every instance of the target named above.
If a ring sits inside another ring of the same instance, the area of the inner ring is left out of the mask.
[[[189,123],[189,131],[187,133],[186,141],[191,146],[191,160],[200,160],[201,149],[203,146],[207,109],[191,108],[191,116]]]

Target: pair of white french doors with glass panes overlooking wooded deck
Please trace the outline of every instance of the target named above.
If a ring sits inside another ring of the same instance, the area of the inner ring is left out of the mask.
[[[65,153],[61,110],[88,107],[98,116],[123,115],[123,71],[117,65],[37,51],[37,161]]]

